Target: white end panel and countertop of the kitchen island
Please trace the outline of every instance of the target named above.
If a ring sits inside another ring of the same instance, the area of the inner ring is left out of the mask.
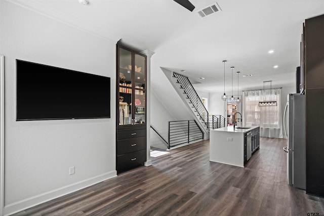
[[[244,167],[244,133],[256,128],[259,126],[235,130],[233,127],[210,130],[209,160]]]

